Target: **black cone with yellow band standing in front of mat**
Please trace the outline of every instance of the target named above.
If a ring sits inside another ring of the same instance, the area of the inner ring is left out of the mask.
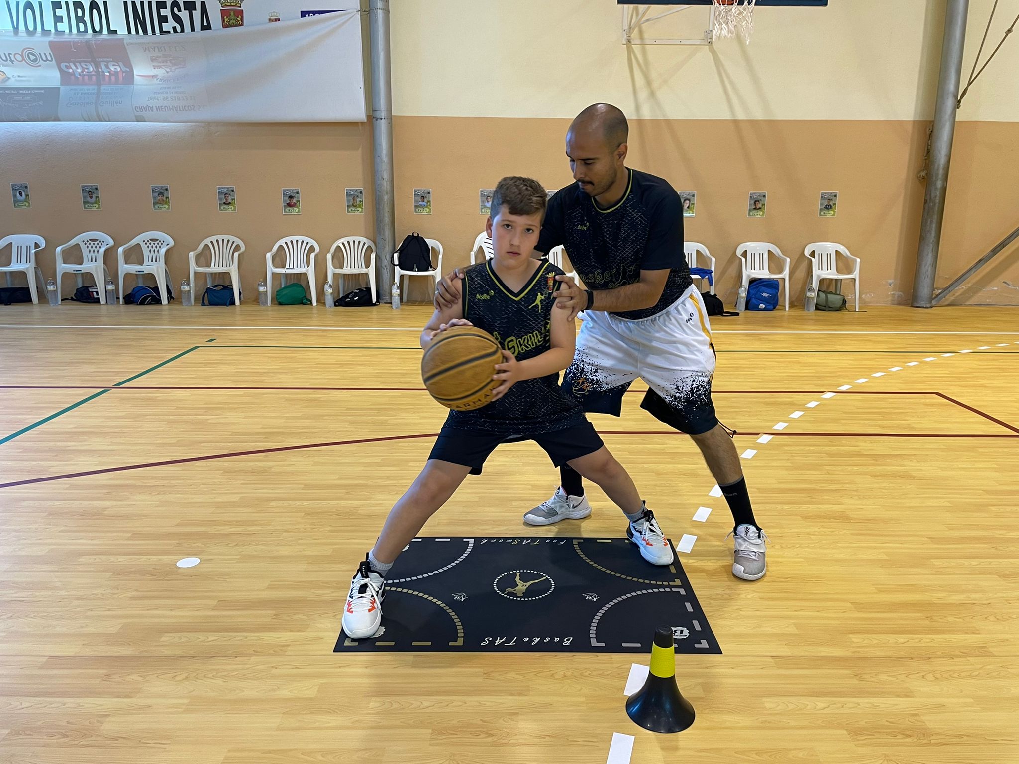
[[[694,707],[676,686],[676,642],[672,629],[655,630],[651,671],[644,687],[627,700],[627,713],[652,732],[682,732],[694,723]]]

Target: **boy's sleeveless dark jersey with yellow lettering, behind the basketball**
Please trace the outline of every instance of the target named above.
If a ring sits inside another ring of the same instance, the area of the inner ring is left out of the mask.
[[[541,263],[524,288],[515,292],[502,283],[491,261],[464,271],[464,318],[495,337],[518,361],[551,347],[554,292],[562,271]],[[549,285],[551,282],[551,285]],[[534,435],[573,427],[584,421],[580,404],[562,392],[559,375],[521,380],[498,400],[470,412],[449,412],[447,427],[504,435]]]

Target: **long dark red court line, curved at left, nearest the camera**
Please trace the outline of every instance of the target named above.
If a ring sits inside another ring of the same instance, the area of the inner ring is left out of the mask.
[[[683,433],[671,430],[599,430],[601,435],[669,435],[673,437],[686,437]],[[764,435],[761,432],[738,433],[741,437],[754,437]],[[808,437],[808,438],[1019,438],[1019,434],[929,434],[929,433],[827,433],[827,432],[768,432],[776,438],[788,437]],[[418,435],[389,435],[380,438],[360,438],[357,440],[334,440],[325,443],[303,443],[301,445],[277,446],[275,448],[255,448],[247,451],[231,451],[226,453],[211,453],[205,456],[185,456],[178,459],[165,459],[163,461],[148,461],[138,465],[123,465],[121,467],[107,467],[99,470],[89,470],[81,473],[67,473],[65,475],[50,475],[44,478],[30,478],[29,480],[18,480],[13,483],[0,483],[0,488],[15,488],[17,486],[34,485],[36,483],[52,483],[57,480],[69,480],[70,478],[86,478],[92,475],[106,475],[108,473],[126,472],[128,470],[144,470],[150,467],[167,467],[169,465],[186,465],[194,461],[211,461],[213,459],[224,459],[233,456],[251,456],[262,453],[278,453],[280,451],[298,451],[309,448],[328,448],[339,445],[356,445],[359,443],[378,443],[387,440],[412,440],[417,438],[434,438],[438,433],[421,433]]]

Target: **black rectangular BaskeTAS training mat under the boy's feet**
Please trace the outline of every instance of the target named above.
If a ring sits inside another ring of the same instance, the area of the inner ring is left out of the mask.
[[[679,558],[627,539],[421,538],[386,578],[382,629],[333,652],[646,653],[668,625],[680,653],[720,653]]]

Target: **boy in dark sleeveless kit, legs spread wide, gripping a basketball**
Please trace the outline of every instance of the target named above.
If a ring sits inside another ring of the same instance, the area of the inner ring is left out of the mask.
[[[626,470],[608,452],[580,404],[562,392],[559,372],[574,357],[576,331],[570,311],[553,310],[564,272],[531,257],[545,214],[547,195],[537,180],[504,177],[492,195],[486,223],[495,253],[464,274],[461,302],[436,311],[421,334],[427,348],[452,326],[474,325],[502,346],[500,380],[488,405],[450,412],[425,469],[386,517],[375,547],[351,582],[343,632],[372,637],[382,621],[385,576],[396,556],[428,519],[452,496],[499,443],[534,440],[558,467],[569,463],[597,483],[630,521],[628,538],[656,565],[673,562],[673,550]],[[578,513],[583,517],[590,513]]]

